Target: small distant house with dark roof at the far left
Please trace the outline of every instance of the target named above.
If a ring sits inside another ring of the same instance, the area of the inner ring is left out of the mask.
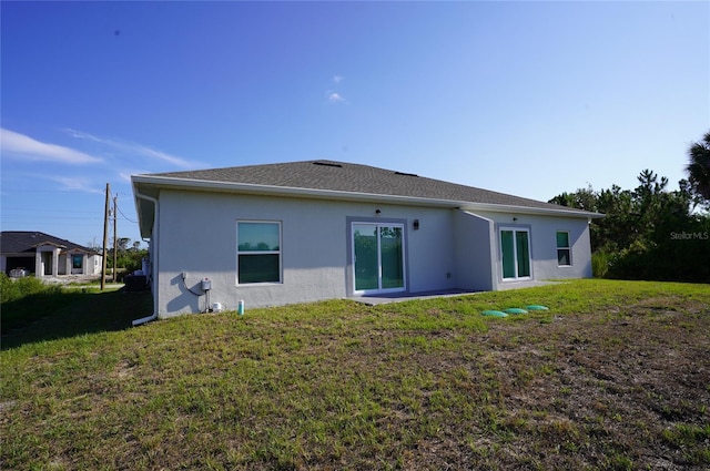
[[[36,231],[0,234],[0,269],[37,277],[101,274],[101,254],[63,238]]]

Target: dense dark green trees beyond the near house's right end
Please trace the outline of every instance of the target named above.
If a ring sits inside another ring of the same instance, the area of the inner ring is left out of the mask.
[[[668,191],[668,178],[650,170],[635,190],[612,185],[562,193],[550,203],[605,214],[590,226],[596,276],[683,281],[710,280],[710,215],[693,214],[691,184],[681,180]]]

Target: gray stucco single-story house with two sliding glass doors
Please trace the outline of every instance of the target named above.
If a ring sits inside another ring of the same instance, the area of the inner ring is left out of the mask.
[[[601,217],[332,161],[131,180],[161,318],[590,277]]]

